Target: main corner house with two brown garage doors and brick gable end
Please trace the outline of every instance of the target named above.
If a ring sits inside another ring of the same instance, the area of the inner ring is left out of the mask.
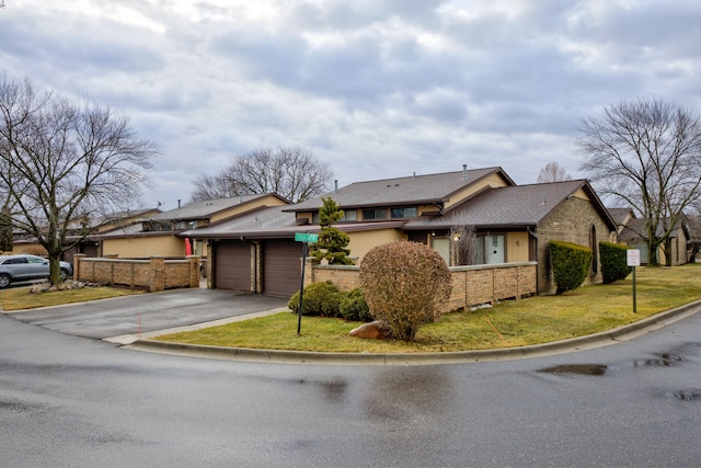
[[[464,232],[474,263],[539,262],[539,290],[554,289],[548,241],[576,242],[598,252],[616,222],[587,181],[516,186],[501,168],[358,182],[325,195],[344,210],[335,224],[348,233],[356,263],[374,247],[399,239],[432,246],[450,265]],[[291,295],[300,285],[301,244],[295,232],[319,232],[321,197],[238,217],[185,236],[207,240],[210,287]],[[598,254],[591,281],[600,279]]]

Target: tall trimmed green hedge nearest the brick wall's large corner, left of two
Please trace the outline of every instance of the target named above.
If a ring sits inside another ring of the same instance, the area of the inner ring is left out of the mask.
[[[555,294],[576,289],[589,273],[591,249],[571,242],[550,241],[550,264],[558,286]]]

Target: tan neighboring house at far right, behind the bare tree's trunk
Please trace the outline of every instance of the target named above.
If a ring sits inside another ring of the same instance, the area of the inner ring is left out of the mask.
[[[647,247],[647,239],[644,237],[646,220],[644,218],[631,218],[621,228],[618,235],[619,243],[630,246],[640,250],[640,262],[646,265],[650,262],[650,249]],[[657,232],[662,235],[664,228],[660,226]],[[669,252],[671,265],[682,265],[689,262],[688,248],[690,241],[689,229],[686,219],[678,221],[677,226],[671,232],[671,251]],[[667,264],[667,252],[664,250],[664,246],[659,246],[657,250],[657,260],[660,265]]]

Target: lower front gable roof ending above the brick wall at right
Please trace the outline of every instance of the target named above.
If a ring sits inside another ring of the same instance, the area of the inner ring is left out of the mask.
[[[485,190],[444,216],[412,219],[404,229],[449,229],[464,224],[475,228],[532,227],[579,190],[585,191],[595,209],[616,230],[616,221],[586,180]]]

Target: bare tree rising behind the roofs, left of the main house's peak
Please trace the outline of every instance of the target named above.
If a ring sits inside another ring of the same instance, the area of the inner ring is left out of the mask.
[[[329,191],[333,172],[310,150],[299,146],[257,148],[233,157],[215,175],[198,175],[193,202],[275,192],[298,203]]]

